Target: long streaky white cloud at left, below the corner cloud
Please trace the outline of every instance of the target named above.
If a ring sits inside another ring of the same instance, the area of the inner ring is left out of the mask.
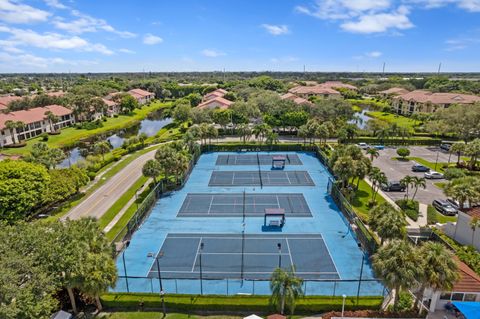
[[[58,33],[37,33],[28,29],[9,28],[0,26],[0,32],[9,33],[7,41],[10,46],[32,46],[42,49],[79,50],[99,52],[105,55],[113,54],[106,46],[100,43],[90,43],[78,36],[68,37]]]

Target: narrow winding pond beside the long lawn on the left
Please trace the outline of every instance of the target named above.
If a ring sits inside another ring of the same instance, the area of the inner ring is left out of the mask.
[[[107,140],[112,149],[120,148],[123,145],[125,139],[128,139],[133,136],[138,136],[142,133],[147,134],[148,137],[154,136],[158,133],[165,125],[172,123],[172,119],[170,117],[163,117],[162,112],[153,112],[149,114],[149,116],[143,119],[140,123],[131,126],[126,129],[118,130],[115,133],[111,133],[110,135],[98,135],[96,137],[91,138],[84,143],[84,146],[77,146],[72,148],[67,152],[68,157],[63,160],[58,167],[59,168],[66,168],[70,167],[72,164],[77,163],[80,160],[85,159],[85,153],[88,152],[87,145],[92,144],[98,141]],[[83,154],[83,155],[82,155]]]

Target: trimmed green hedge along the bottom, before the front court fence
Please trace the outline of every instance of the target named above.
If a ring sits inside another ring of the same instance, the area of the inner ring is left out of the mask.
[[[161,299],[158,294],[151,293],[108,293],[101,297],[105,308],[138,309],[143,302],[145,309],[161,309]],[[346,310],[380,309],[382,296],[360,297],[356,305],[356,297],[347,297]],[[166,295],[166,308],[169,311],[216,311],[268,313],[274,311],[269,303],[269,296],[224,296],[224,295]],[[342,297],[315,296],[299,298],[296,303],[296,314],[321,313],[331,310],[341,310]]]

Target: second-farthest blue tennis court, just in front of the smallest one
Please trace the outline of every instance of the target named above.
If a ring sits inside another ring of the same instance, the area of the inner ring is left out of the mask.
[[[213,171],[208,186],[315,186],[307,171]]]

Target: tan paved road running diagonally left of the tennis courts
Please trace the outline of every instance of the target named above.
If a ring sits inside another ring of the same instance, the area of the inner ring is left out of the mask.
[[[74,207],[62,220],[81,217],[100,218],[140,178],[146,161],[155,157],[156,148],[125,166],[99,189]]]

